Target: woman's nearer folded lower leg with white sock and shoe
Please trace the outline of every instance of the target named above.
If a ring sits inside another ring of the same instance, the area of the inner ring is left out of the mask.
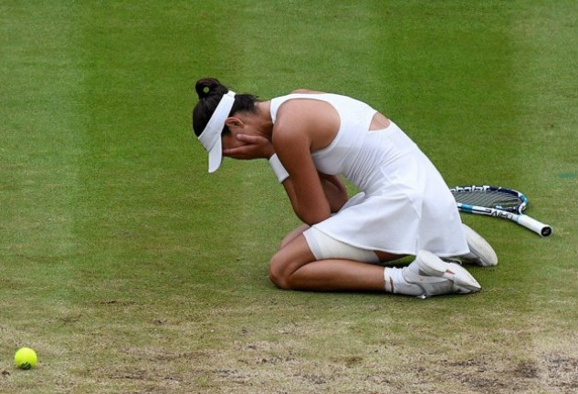
[[[392,254],[388,254],[393,256]],[[436,255],[420,252],[405,268],[346,259],[316,260],[303,234],[289,241],[269,264],[269,278],[279,288],[310,291],[371,291],[407,296],[471,293],[480,286],[458,264],[444,263]]]

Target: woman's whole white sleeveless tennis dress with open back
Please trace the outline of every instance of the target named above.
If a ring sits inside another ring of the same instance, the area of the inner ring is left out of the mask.
[[[469,252],[456,201],[436,167],[394,122],[369,130],[377,112],[335,94],[290,94],[271,99],[271,118],[289,99],[328,102],[340,116],[331,144],[311,152],[317,169],[341,174],[361,192],[339,213],[314,224],[346,244],[392,254],[427,250],[441,257]]]

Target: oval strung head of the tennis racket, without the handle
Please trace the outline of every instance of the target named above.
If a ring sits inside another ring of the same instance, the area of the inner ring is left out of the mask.
[[[467,185],[450,188],[456,202],[521,214],[528,198],[518,191],[491,185]]]

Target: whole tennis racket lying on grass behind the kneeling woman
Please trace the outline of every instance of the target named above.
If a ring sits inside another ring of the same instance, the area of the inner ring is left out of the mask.
[[[456,186],[449,191],[454,195],[457,209],[461,212],[510,219],[542,237],[552,234],[551,226],[523,214],[528,198],[520,192],[489,185]]]

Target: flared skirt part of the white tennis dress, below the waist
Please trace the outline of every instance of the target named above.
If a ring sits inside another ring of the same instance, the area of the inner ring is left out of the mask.
[[[469,252],[456,201],[416,146],[402,160],[384,165],[373,180],[371,192],[360,192],[314,226],[345,244],[390,254]]]

